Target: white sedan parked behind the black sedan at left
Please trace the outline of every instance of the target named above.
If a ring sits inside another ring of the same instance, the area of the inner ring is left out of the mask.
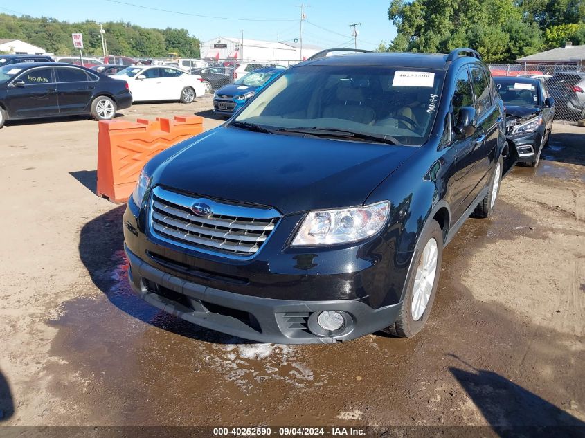
[[[110,77],[128,82],[134,102],[180,100],[191,103],[205,94],[201,76],[170,66],[131,66]]]

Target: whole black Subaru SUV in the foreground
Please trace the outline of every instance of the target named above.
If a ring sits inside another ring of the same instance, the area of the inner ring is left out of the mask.
[[[413,336],[443,247],[491,215],[515,159],[476,51],[301,62],[145,165],[123,219],[129,281],[251,340]]]

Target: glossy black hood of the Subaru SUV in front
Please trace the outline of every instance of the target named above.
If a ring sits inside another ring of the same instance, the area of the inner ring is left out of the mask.
[[[152,185],[272,206],[283,214],[358,206],[417,147],[218,127],[156,167]]]

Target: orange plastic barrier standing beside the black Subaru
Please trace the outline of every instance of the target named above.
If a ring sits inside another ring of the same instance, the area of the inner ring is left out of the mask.
[[[98,195],[115,203],[128,200],[145,163],[159,152],[203,132],[199,116],[105,120],[99,122]]]

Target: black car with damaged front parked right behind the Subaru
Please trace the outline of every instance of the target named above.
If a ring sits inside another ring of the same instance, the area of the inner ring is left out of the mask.
[[[548,143],[555,100],[538,79],[494,77],[506,109],[506,138],[518,151],[518,161],[538,167],[542,148]]]

